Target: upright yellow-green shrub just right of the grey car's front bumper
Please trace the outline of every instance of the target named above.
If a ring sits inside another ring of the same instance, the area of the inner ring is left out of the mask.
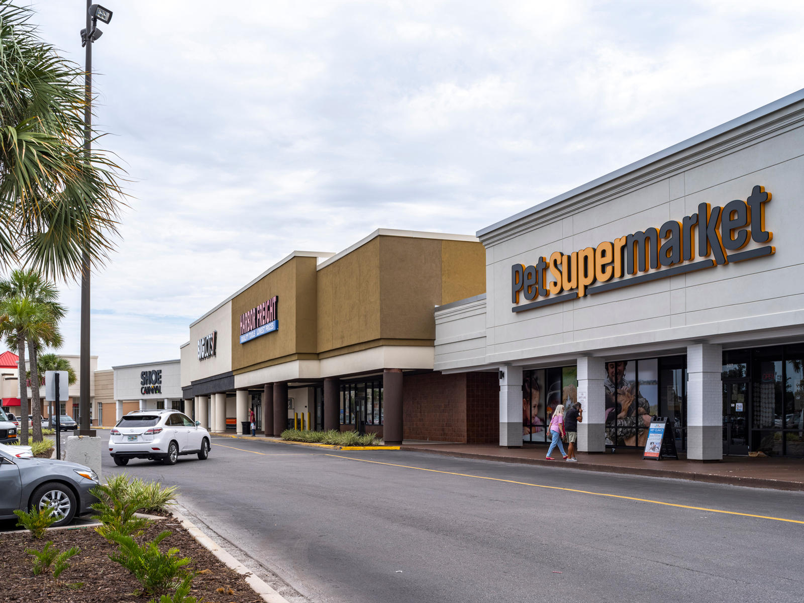
[[[141,536],[151,523],[150,519],[134,516],[144,507],[145,501],[129,496],[128,483],[128,477],[122,474],[91,490],[98,499],[91,508],[96,511],[96,519],[102,524],[95,531],[109,542],[114,541],[115,535]]]

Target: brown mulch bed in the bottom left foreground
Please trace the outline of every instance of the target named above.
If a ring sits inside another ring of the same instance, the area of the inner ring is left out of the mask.
[[[261,603],[262,597],[254,593],[244,576],[227,568],[187,533],[175,519],[154,521],[142,541],[154,539],[161,531],[173,533],[159,544],[159,550],[178,548],[179,555],[190,557],[185,566],[197,572],[191,596],[204,603]],[[48,540],[64,551],[78,547],[81,552],[69,561],[70,567],[59,576],[59,585],[53,584],[50,574],[33,574],[33,557],[26,548],[40,551]],[[37,540],[27,530],[0,534],[0,601],[24,603],[147,603],[152,597],[138,594],[140,584],[122,565],[109,559],[117,545],[109,544],[92,527],[68,530],[48,530]],[[68,586],[84,583],[81,586]],[[172,595],[172,591],[169,593]],[[156,597],[158,601],[158,597]]]

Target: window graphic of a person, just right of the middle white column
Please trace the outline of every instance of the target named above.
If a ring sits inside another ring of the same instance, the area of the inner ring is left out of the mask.
[[[605,443],[644,446],[648,432],[642,429],[638,433],[637,427],[650,425],[650,404],[639,395],[636,384],[626,379],[627,364],[618,360],[605,365]]]

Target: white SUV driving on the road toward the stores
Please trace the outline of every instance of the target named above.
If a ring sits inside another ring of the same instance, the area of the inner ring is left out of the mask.
[[[130,458],[161,460],[174,465],[180,454],[209,456],[209,432],[187,415],[175,410],[129,412],[118,421],[109,436],[109,454],[115,465]]]

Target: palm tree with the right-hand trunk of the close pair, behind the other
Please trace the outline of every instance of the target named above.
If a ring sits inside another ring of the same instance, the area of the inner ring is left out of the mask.
[[[39,367],[37,356],[43,344],[51,347],[60,347],[62,343],[59,334],[59,320],[67,313],[64,306],[59,304],[59,291],[53,283],[43,279],[35,270],[17,269],[7,279],[0,281],[0,299],[20,297],[31,301],[38,311],[35,321],[27,326],[25,338],[28,344],[28,357],[31,359],[31,414],[35,417],[33,422],[34,441],[42,441],[42,400],[39,398]],[[24,362],[22,363],[24,367]]]

